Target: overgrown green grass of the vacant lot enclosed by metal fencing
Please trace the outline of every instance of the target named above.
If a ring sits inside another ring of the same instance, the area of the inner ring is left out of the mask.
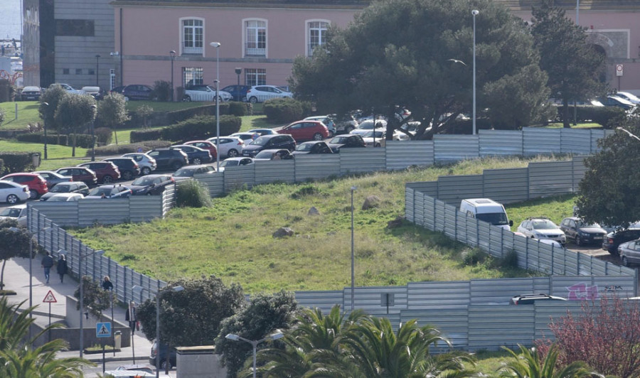
[[[527,163],[494,158],[316,183],[272,183],[215,198],[211,208],[171,210],[166,220],[71,232],[90,247],[104,249],[115,261],[165,281],[215,274],[226,284],[241,284],[248,293],[338,290],[350,283],[350,188],[356,185],[358,286],[527,276],[526,271],[498,266],[491,258],[464,265],[468,247],[409,222],[386,227],[403,215],[407,182]],[[361,210],[369,195],[380,199],[379,207]],[[307,215],[311,206],[320,215]],[[294,237],[274,239],[272,233],[279,227],[291,227]]]

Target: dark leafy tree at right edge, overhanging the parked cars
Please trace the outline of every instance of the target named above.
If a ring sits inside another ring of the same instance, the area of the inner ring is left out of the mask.
[[[625,126],[640,136],[640,123]],[[627,227],[640,219],[640,141],[622,130],[601,139],[600,151],[585,159],[585,177],[578,185],[577,213],[587,222]]]

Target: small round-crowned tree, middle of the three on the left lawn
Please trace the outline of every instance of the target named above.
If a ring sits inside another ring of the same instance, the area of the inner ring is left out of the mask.
[[[67,95],[55,109],[55,123],[73,132],[71,156],[75,156],[75,134],[95,119],[95,107],[95,98],[90,95]]]

